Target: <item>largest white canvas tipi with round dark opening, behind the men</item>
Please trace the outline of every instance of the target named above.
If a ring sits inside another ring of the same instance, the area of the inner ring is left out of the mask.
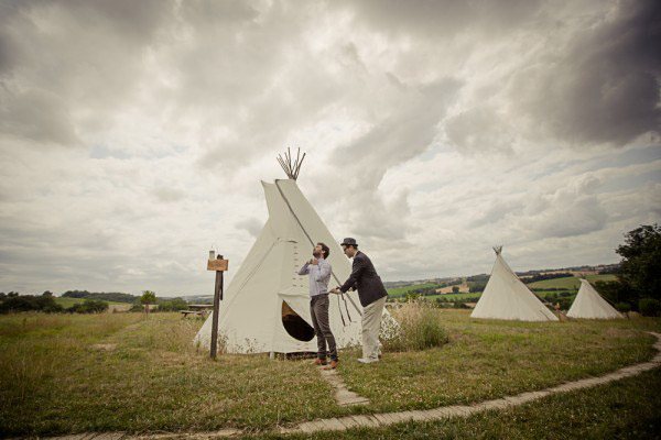
[[[283,167],[290,179],[262,182],[269,220],[220,301],[218,334],[228,353],[316,352],[307,275],[297,272],[312,257],[314,245],[323,242],[330,249],[328,287],[342,285],[350,274],[338,240],[296,185],[297,167]],[[362,307],[357,293],[330,294],[329,299],[337,348],[360,343]],[[212,316],[195,342],[209,346]]]

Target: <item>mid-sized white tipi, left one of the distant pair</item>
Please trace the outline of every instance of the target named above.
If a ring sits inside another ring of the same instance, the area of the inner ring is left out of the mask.
[[[494,248],[496,263],[472,318],[520,321],[557,321],[557,317],[539,300],[507,265],[502,246]]]

